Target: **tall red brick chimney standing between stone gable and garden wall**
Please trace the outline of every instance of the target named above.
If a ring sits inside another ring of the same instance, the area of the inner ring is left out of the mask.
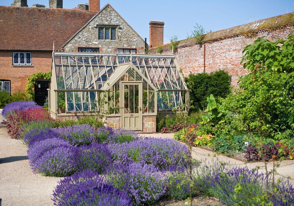
[[[163,45],[163,21],[150,21],[150,47],[155,47],[157,44]]]

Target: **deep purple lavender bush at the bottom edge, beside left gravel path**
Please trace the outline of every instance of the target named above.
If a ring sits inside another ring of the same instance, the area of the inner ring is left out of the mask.
[[[111,184],[91,170],[84,170],[60,180],[52,200],[54,205],[132,205],[132,199],[125,192]]]

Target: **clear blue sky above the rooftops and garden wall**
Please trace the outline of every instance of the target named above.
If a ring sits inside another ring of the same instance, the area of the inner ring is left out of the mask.
[[[27,0],[28,6],[44,4],[49,0]],[[1,0],[10,6],[13,0]],[[88,0],[64,0],[63,8],[72,9]],[[195,23],[206,31],[238,26],[294,11],[294,0],[101,0],[101,8],[110,3],[116,11],[149,43],[149,21],[164,21],[164,43],[171,36],[185,39]],[[0,17],[1,18],[1,17]],[[74,26],[74,25],[73,25]]]

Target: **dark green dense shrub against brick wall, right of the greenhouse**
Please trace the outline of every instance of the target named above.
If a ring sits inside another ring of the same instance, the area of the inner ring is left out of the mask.
[[[190,112],[206,109],[207,97],[227,97],[231,92],[231,76],[223,70],[208,73],[190,74],[186,79],[190,92]]]

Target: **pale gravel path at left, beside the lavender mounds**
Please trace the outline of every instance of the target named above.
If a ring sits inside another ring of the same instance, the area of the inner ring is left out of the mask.
[[[60,178],[34,174],[27,147],[0,128],[0,198],[5,205],[53,205],[50,195]]]

